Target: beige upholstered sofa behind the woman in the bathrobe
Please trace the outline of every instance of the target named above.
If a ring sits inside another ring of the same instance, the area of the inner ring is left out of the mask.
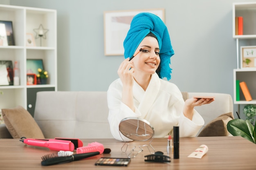
[[[204,118],[205,125],[224,113],[233,115],[233,100],[229,94],[182,94],[184,100],[194,95],[215,96],[211,104],[195,108]],[[106,92],[38,92],[34,119],[45,138],[113,138],[108,124]],[[11,138],[4,124],[0,124],[0,138]]]

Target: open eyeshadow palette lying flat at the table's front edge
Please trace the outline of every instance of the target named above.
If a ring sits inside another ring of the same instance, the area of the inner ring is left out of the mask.
[[[103,166],[128,166],[130,163],[130,158],[100,158],[95,165]]]

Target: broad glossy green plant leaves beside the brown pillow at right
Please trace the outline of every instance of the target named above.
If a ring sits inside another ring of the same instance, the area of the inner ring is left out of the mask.
[[[233,119],[227,123],[227,130],[233,136],[241,136],[256,144],[256,129],[249,120]]]

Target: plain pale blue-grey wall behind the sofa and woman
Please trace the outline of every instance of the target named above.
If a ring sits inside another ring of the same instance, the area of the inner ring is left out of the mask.
[[[11,5],[57,10],[59,91],[106,91],[118,78],[117,68],[124,57],[104,55],[104,11],[164,8],[175,51],[170,81],[181,91],[229,93],[232,97],[236,68],[232,3],[253,1],[9,0]],[[4,2],[8,1],[0,0],[0,4]]]

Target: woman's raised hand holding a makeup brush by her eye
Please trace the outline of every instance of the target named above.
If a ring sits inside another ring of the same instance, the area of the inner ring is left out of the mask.
[[[123,62],[121,62],[117,71],[123,86],[133,86],[133,72],[133,63],[132,61],[129,61],[129,58],[126,58]]]

